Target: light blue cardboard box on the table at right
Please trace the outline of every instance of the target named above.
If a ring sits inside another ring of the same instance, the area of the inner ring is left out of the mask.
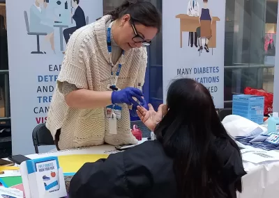
[[[232,98],[232,114],[240,115],[252,122],[264,122],[264,97],[236,94]]]

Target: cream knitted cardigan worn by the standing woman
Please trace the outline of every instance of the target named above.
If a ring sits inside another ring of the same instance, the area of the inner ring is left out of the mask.
[[[110,84],[110,60],[107,51],[107,29],[110,15],[93,24],[84,26],[70,37],[59,74],[56,89],[47,115],[47,129],[55,137],[61,129],[59,149],[72,149],[103,145],[135,144],[137,140],[130,132],[128,106],[121,104],[121,119],[117,120],[117,134],[108,133],[105,108],[69,108],[61,92],[61,84],[68,82],[79,89],[106,91]],[[114,65],[114,74],[118,67]],[[117,87],[123,89],[144,84],[147,63],[146,49],[130,49],[125,52]]]

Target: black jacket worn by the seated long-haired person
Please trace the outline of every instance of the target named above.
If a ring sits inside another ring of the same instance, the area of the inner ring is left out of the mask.
[[[231,154],[227,159],[234,159],[236,174],[243,176],[240,156],[234,151]],[[96,163],[86,163],[73,176],[69,197],[175,198],[176,180],[172,166],[173,160],[166,156],[160,142],[144,142]]]

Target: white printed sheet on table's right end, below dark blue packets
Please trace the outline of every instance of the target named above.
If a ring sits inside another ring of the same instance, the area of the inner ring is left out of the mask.
[[[279,152],[264,151],[262,149],[241,149],[242,160],[250,163],[263,163],[266,161],[279,161]]]

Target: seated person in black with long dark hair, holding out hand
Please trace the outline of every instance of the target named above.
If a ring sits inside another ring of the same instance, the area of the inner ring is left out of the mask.
[[[137,108],[156,140],[86,163],[70,182],[70,198],[233,198],[241,192],[246,172],[239,147],[204,85],[176,80],[167,106]]]

